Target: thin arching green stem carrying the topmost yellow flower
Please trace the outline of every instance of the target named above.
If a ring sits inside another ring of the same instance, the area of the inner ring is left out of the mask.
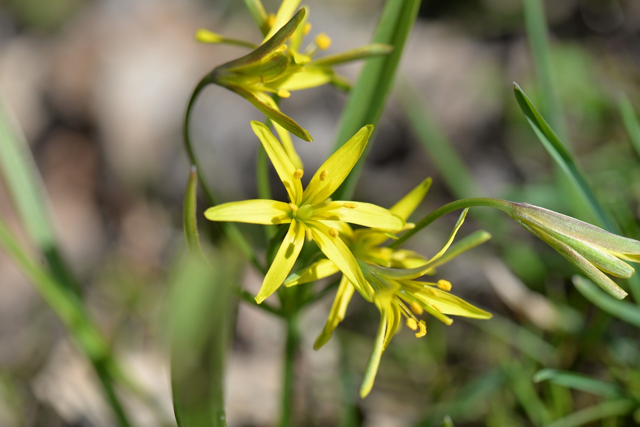
[[[200,186],[204,191],[205,198],[207,198],[207,202],[209,202],[209,205],[214,206],[218,204],[218,201],[216,200],[216,197],[211,187],[205,180],[205,177],[202,173],[203,168],[200,167],[200,163],[198,162],[198,159],[195,156],[195,152],[193,151],[193,145],[191,144],[191,137],[189,136],[189,118],[191,118],[191,109],[193,109],[195,101],[196,99],[198,99],[200,92],[202,92],[202,90],[207,85],[209,85],[210,83],[213,83],[212,79],[213,79],[213,73],[207,74],[202,78],[202,80],[200,80],[198,85],[196,85],[196,88],[193,90],[193,93],[191,93],[191,98],[189,99],[189,103],[187,104],[187,111],[184,115],[183,140],[184,140],[184,148],[186,149],[187,155],[189,156],[189,161],[191,162],[191,165],[194,165],[197,168],[198,182],[200,182]],[[222,222],[219,224],[220,224],[220,228],[227,235],[227,238],[230,241],[232,241],[241,250],[244,256],[246,256],[247,259],[253,264],[253,266],[255,266],[255,268],[257,268],[259,271],[261,271],[262,274],[266,274],[266,268],[262,264],[260,264],[257,256],[255,255],[255,252],[253,252],[252,245],[248,242],[246,238],[244,238],[240,229],[238,229],[238,227],[233,223]]]

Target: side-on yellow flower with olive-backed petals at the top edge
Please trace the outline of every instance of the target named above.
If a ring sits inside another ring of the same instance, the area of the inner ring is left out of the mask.
[[[300,51],[303,37],[308,33],[310,24],[305,22],[307,10],[301,8],[295,15],[293,12],[300,4],[300,0],[284,0],[278,13],[266,15],[262,4],[257,1],[258,9],[264,15],[260,18],[259,26],[265,34],[260,45],[253,45],[242,40],[225,38],[205,29],[196,32],[196,38],[205,43],[227,43],[252,47],[253,51],[215,68],[205,76],[204,84],[216,83],[241,95],[257,109],[271,118],[278,126],[276,131],[283,140],[282,143],[291,155],[291,147],[284,141],[284,130],[299,138],[311,141],[308,132],[291,117],[283,114],[271,93],[287,98],[291,91],[314,88],[316,86],[333,83],[337,86],[348,86],[344,78],[335,74],[334,65],[348,61],[369,58],[371,56],[387,54],[392,50],[390,45],[372,44],[315,59],[318,50],[327,49],[331,39],[321,33],[314,42]],[[298,161],[297,154],[293,156],[294,164]],[[300,165],[297,165],[300,166]]]

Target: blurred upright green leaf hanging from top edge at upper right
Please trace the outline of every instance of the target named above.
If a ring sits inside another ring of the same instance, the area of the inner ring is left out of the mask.
[[[568,133],[563,120],[563,109],[554,81],[544,5],[541,0],[524,0],[523,6],[527,36],[540,88],[542,111],[545,117],[549,118],[551,127],[556,129],[564,141],[567,141]]]

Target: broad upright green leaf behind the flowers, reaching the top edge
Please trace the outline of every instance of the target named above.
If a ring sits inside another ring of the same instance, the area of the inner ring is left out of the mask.
[[[419,6],[420,0],[388,0],[385,3],[373,42],[392,45],[394,50],[381,58],[368,60],[362,68],[360,78],[351,90],[347,105],[342,112],[340,130],[333,145],[334,151],[351,138],[360,127],[378,124],[396,75],[404,43],[413,28]],[[349,177],[334,193],[335,200],[351,199],[371,146],[372,144],[369,143]]]

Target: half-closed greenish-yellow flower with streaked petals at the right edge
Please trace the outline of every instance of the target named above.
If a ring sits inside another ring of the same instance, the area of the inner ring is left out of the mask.
[[[496,207],[557,250],[611,296],[619,300],[627,296],[604,273],[632,277],[634,268],[621,259],[640,262],[640,241],[612,234],[595,225],[528,203],[499,202],[500,205]]]

